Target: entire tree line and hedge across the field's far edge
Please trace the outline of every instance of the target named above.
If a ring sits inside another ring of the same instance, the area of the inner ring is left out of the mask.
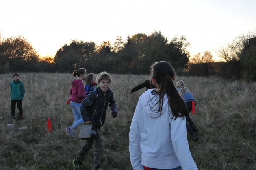
[[[1,36],[1,35],[0,35]],[[211,51],[191,57],[190,43],[184,35],[168,40],[161,31],[117,36],[111,44],[71,40],[60,47],[54,57],[40,57],[21,35],[0,37],[0,73],[63,72],[86,68],[88,72],[148,74],[152,63],[170,62],[177,73],[184,75],[220,75],[231,79],[256,80],[256,31],[247,31],[215,52],[222,61],[213,63]]]

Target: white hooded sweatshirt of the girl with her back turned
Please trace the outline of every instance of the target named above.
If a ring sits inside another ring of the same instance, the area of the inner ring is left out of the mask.
[[[153,108],[159,99],[158,95],[152,95],[153,90],[141,95],[132,119],[129,133],[132,167],[171,169],[181,165],[183,170],[198,170],[189,151],[186,119],[171,119],[166,95],[160,115],[159,105]]]

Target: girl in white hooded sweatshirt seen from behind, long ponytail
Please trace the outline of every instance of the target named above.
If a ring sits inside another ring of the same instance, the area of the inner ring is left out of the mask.
[[[130,159],[134,170],[198,170],[187,142],[187,106],[176,90],[169,62],[151,66],[156,89],[139,98],[130,127]]]

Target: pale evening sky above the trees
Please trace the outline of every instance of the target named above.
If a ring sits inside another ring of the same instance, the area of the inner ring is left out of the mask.
[[[211,51],[245,31],[256,30],[256,0],[5,0],[1,39],[22,35],[44,56],[72,39],[115,42],[128,35],[161,31],[184,35],[191,55]]]

